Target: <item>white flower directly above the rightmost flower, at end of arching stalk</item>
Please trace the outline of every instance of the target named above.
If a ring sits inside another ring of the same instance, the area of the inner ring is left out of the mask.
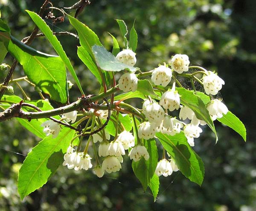
[[[208,71],[207,75],[204,75],[202,80],[206,94],[217,94],[218,91],[221,90],[222,85],[225,84],[224,80],[222,80],[216,73],[213,73],[212,71]]]

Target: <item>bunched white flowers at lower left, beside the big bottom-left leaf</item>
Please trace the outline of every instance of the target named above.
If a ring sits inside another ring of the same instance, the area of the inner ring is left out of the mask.
[[[83,152],[76,152],[73,146],[69,146],[67,153],[64,154],[63,165],[67,165],[68,169],[74,168],[76,171],[81,169],[88,170],[93,167],[90,162],[91,159],[90,155],[84,154]]]

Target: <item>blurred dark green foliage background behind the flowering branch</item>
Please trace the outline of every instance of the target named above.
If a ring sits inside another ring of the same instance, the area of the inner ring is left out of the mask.
[[[24,10],[38,11],[44,0],[9,0],[6,5],[5,2],[0,0],[2,19],[8,22],[12,34],[21,40],[34,27]],[[60,7],[75,2],[52,0]],[[256,2],[251,0],[92,0],[79,16],[80,21],[99,35],[108,50],[111,50],[112,38],[107,31],[122,42],[114,19],[125,20],[130,29],[136,19],[137,63],[143,70],[151,70],[158,63],[168,61],[173,54],[181,53],[188,54],[192,64],[218,71],[224,79],[226,84],[219,97],[223,97],[230,111],[245,124],[247,143],[234,131],[217,123],[219,142],[215,145],[212,132],[204,128],[195,144],[195,151],[205,163],[206,173],[201,187],[175,172],[160,179],[160,191],[154,203],[150,191],[143,192],[132,172],[131,161],[125,157],[122,171],[101,179],[91,171],[75,172],[61,166],[47,185],[21,202],[17,194],[17,172],[25,157],[12,151],[26,155],[39,140],[21,128],[17,120],[12,120],[0,124],[0,209],[256,210],[254,8]],[[74,11],[69,13],[74,14]],[[53,31],[75,31],[68,20],[49,26]],[[74,63],[85,93],[96,93],[99,88],[96,80],[74,53],[79,41],[67,36],[58,38]],[[44,37],[35,40],[32,47],[55,53]],[[12,63],[9,54],[5,62]],[[6,72],[0,72],[1,81],[5,75]],[[20,75],[23,71],[18,66],[14,76]],[[15,94],[19,94],[18,88],[14,88]],[[79,97],[78,88],[71,89],[70,97],[72,100]]]

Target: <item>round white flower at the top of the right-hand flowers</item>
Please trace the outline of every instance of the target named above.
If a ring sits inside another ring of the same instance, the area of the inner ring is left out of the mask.
[[[186,54],[175,54],[171,60],[171,67],[181,74],[189,70],[189,57]]]

